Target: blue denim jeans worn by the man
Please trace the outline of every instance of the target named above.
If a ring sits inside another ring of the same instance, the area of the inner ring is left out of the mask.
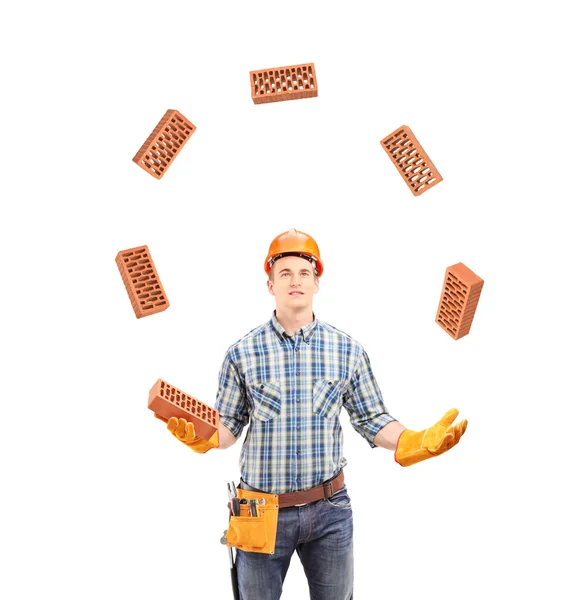
[[[353,598],[353,511],[346,486],[328,500],[280,509],[274,554],[237,550],[241,600],[278,600],[294,552],[310,600]]]

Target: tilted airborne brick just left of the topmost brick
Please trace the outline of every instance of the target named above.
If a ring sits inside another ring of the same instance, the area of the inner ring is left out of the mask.
[[[178,110],[168,109],[132,160],[161,179],[195,129]]]

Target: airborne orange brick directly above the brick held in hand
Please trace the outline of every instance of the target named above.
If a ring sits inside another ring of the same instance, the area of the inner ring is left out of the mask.
[[[116,256],[116,264],[136,318],[162,312],[170,306],[148,246],[121,250]]]

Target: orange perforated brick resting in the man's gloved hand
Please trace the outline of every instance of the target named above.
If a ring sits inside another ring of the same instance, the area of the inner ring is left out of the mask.
[[[210,440],[217,431],[219,413],[200,400],[159,379],[148,394],[148,408],[167,421],[183,418],[195,426],[199,437]]]

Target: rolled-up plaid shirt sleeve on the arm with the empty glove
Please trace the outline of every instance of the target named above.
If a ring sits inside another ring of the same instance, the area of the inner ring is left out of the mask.
[[[351,425],[372,448],[373,438],[382,427],[395,419],[387,412],[367,353],[363,351],[343,397]]]

